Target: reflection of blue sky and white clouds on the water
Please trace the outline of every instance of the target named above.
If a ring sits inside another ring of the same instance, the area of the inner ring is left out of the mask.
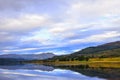
[[[7,70],[0,69],[0,80],[103,80],[97,77],[88,77],[70,70],[55,69],[41,70]]]

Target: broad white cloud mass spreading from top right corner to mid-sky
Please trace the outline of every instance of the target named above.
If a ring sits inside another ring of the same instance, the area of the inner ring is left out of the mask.
[[[115,16],[120,14],[119,4],[119,0],[73,1],[62,16],[63,20],[57,23],[53,21],[48,31],[63,38],[90,30],[118,31],[119,26],[110,20],[116,19]]]

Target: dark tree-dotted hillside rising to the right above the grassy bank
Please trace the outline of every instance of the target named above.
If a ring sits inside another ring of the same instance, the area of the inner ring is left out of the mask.
[[[120,41],[88,47],[69,55],[54,56],[49,60],[88,60],[89,58],[120,57]]]

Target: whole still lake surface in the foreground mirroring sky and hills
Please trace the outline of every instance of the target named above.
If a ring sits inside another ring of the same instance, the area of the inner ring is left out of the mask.
[[[35,64],[0,66],[0,80],[120,80],[120,69]]]

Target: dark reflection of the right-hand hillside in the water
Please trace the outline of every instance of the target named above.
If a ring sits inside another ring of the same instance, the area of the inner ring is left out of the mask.
[[[58,66],[90,77],[100,77],[108,80],[120,80],[120,68],[89,67],[89,65]]]

